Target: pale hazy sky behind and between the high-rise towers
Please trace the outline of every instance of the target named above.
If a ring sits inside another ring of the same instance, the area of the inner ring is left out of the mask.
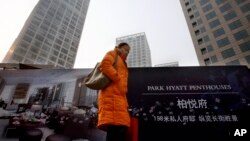
[[[0,60],[38,0],[5,0],[0,5]],[[91,68],[115,39],[145,32],[152,65],[178,61],[198,66],[179,0],[91,0],[74,68]]]

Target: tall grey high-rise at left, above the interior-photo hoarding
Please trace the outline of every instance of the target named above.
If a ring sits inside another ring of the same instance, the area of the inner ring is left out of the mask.
[[[3,63],[73,68],[90,0],[40,0]]]

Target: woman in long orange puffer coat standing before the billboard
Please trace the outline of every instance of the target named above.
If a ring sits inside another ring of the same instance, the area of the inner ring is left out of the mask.
[[[128,68],[126,58],[130,47],[120,43],[103,58],[100,69],[112,80],[98,97],[98,128],[107,131],[106,141],[125,141],[130,126],[127,102]],[[118,55],[118,56],[117,56]],[[117,58],[117,59],[116,59]],[[116,65],[113,66],[116,60]]]

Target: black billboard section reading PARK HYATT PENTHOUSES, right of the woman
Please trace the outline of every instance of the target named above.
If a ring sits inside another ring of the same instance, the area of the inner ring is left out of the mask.
[[[245,139],[250,73],[244,66],[129,69],[139,141]]]

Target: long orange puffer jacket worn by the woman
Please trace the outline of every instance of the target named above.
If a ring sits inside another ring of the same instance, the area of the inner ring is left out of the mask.
[[[128,68],[118,55],[116,68],[116,49],[109,51],[103,58],[100,69],[112,82],[100,90],[98,97],[98,128],[106,130],[107,125],[130,126],[130,116],[127,102]]]

